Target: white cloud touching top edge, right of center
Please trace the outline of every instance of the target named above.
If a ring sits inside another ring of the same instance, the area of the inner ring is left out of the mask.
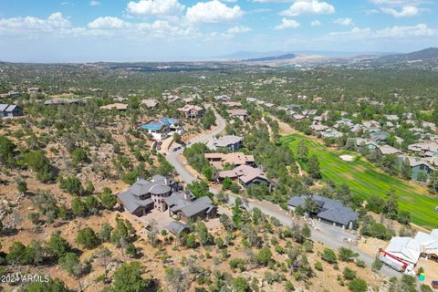
[[[300,16],[300,15],[329,15],[335,13],[335,7],[327,2],[318,0],[299,0],[296,1],[286,10],[282,11],[282,16]]]

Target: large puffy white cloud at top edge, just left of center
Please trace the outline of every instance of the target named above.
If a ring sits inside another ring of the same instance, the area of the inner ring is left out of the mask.
[[[212,0],[198,2],[188,8],[185,18],[189,23],[219,23],[236,20],[243,14],[244,12],[237,5],[228,7],[224,3]]]

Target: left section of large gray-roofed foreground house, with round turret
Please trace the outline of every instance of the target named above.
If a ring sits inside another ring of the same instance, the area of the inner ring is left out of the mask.
[[[130,189],[119,193],[117,199],[130,214],[142,216],[152,209],[165,211],[167,204],[164,199],[169,197],[172,192],[180,190],[181,186],[172,179],[155,175],[151,181],[139,178],[136,183],[130,186]]]

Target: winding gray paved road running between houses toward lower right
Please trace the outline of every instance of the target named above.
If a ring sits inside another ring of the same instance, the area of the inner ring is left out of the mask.
[[[214,116],[216,117],[216,127],[211,132],[203,135],[203,136],[197,136],[194,137],[193,140],[190,141],[190,144],[198,143],[198,142],[204,142],[208,141],[210,138],[214,137],[215,135],[219,134],[225,129],[226,121],[223,117],[221,117],[216,111],[214,111]],[[167,161],[172,164],[172,166],[175,168],[175,171],[180,175],[181,179],[184,183],[193,183],[193,181],[196,181],[197,178],[192,175],[183,165],[183,163],[178,159],[180,154],[182,154],[183,149],[180,149],[178,151],[170,151],[167,154]],[[217,193],[218,191],[216,189],[210,188],[210,192]],[[235,202],[235,196],[229,194],[230,202]],[[271,217],[275,217],[280,221],[281,224],[291,226],[294,223],[294,219],[291,216],[291,214],[288,214],[285,210],[281,209],[278,205],[274,203],[269,203],[266,201],[257,201],[252,199],[245,199],[245,207],[248,210],[251,210],[253,208],[259,208],[264,214],[269,215]],[[364,254],[361,252],[358,248],[355,246],[349,245],[348,243],[344,242],[344,238],[351,238],[353,235],[349,234],[348,232],[345,232],[341,230],[340,228],[333,227],[327,224],[318,224],[318,227],[320,230],[312,230],[311,239],[313,241],[322,243],[323,245],[328,246],[332,249],[339,249],[339,247],[349,247],[355,252],[359,254],[359,258],[363,260],[367,266],[371,266],[372,262],[374,261],[374,257]],[[377,253],[377,251],[376,251]],[[381,274],[384,276],[396,276],[401,277],[401,274],[392,270],[391,268],[387,266],[383,266],[381,269]]]

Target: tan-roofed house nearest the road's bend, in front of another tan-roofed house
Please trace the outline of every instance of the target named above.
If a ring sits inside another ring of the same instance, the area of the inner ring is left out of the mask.
[[[226,177],[229,177],[232,180],[237,180],[244,188],[247,188],[252,184],[271,184],[261,169],[249,165],[240,165],[233,170],[218,173],[219,181],[223,181]]]

